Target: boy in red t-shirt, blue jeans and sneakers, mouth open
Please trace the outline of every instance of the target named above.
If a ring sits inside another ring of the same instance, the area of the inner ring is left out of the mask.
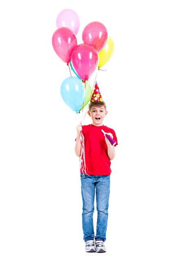
[[[92,124],[85,126],[79,124],[77,126],[75,153],[82,158],[80,168],[83,202],[82,229],[86,252],[106,252],[104,241],[106,240],[108,221],[110,165],[111,160],[115,157],[117,137],[113,129],[103,125],[104,117],[107,115],[105,102],[102,99],[101,101],[92,101],[92,99],[95,98],[91,98],[88,111]],[[111,145],[102,129],[116,141],[115,146]],[[84,138],[83,147],[82,137]],[[96,235],[93,228],[95,192],[97,205]]]

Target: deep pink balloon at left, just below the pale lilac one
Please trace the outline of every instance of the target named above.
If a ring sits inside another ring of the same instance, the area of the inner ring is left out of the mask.
[[[68,64],[72,51],[77,46],[77,38],[71,29],[60,27],[53,33],[52,45],[56,54]]]

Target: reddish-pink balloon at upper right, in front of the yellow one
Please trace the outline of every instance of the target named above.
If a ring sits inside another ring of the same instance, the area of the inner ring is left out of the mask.
[[[100,52],[108,39],[106,27],[98,21],[89,23],[82,33],[83,42],[93,46],[97,52]]]

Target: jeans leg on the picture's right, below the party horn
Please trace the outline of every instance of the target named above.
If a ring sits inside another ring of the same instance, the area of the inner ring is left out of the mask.
[[[104,242],[106,240],[108,223],[110,175],[96,177],[97,233],[95,240],[102,240]]]

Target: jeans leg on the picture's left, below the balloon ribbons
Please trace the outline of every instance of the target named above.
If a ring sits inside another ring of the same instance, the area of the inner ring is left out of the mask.
[[[94,176],[80,174],[82,191],[82,228],[84,242],[94,239],[93,213],[95,197],[95,178]]]

